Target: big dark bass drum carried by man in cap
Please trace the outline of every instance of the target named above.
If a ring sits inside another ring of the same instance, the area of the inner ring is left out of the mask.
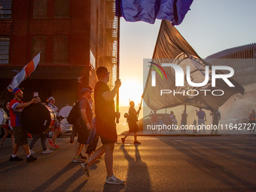
[[[24,130],[31,134],[46,133],[54,126],[55,120],[53,109],[40,103],[33,103],[24,108],[20,116]]]

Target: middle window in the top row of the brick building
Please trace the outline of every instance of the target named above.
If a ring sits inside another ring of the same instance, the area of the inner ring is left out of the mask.
[[[47,18],[47,0],[34,0],[33,18]]]

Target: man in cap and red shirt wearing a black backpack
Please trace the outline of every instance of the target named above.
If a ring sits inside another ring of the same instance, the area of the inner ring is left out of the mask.
[[[84,145],[87,145],[88,137],[90,136],[91,124],[93,121],[93,109],[90,105],[89,99],[91,99],[92,90],[84,88],[81,90],[81,99],[79,99],[78,108],[79,118],[75,123],[75,130],[78,132],[78,142],[75,145],[75,157],[73,162],[84,163],[84,160],[79,157],[81,154],[81,149]]]

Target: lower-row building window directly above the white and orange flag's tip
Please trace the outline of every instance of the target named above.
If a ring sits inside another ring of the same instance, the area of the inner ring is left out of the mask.
[[[45,44],[46,37],[44,35],[35,35],[32,37],[32,58],[36,56],[39,52],[41,52],[41,63],[45,62]]]

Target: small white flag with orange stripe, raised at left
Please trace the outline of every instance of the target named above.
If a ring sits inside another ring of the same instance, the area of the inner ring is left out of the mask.
[[[41,52],[40,52],[41,53]],[[38,53],[25,67],[13,78],[11,84],[8,85],[8,91],[12,92],[14,88],[18,87],[22,81],[32,75],[40,61],[40,53]]]

